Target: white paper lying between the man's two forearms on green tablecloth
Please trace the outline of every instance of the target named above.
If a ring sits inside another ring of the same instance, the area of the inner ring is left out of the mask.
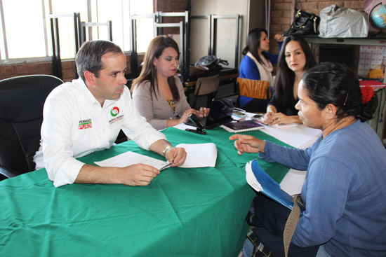
[[[162,167],[168,165],[168,162],[164,162],[162,160],[158,160],[158,159],[151,158],[149,156],[142,155],[139,153],[134,153],[134,152],[121,153],[120,155],[114,156],[112,158],[108,158],[100,162],[95,162],[95,164],[100,167],[121,167],[121,168],[130,166],[130,165],[135,165],[138,163],[150,165],[160,170]]]

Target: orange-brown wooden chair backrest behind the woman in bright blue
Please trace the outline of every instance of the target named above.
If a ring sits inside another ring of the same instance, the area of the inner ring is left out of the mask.
[[[271,88],[268,81],[257,81],[248,78],[237,78],[240,95],[256,99],[271,99]]]

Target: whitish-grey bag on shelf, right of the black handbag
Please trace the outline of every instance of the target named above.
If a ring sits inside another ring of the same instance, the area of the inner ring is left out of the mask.
[[[320,11],[322,38],[363,38],[368,34],[367,13],[332,4]]]

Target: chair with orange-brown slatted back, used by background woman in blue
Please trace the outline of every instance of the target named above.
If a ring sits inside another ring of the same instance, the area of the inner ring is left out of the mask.
[[[240,108],[249,112],[265,113],[269,99],[272,97],[268,81],[258,81],[248,78],[237,78],[240,96],[254,98]]]

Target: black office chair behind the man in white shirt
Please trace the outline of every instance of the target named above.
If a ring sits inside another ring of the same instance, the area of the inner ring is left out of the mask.
[[[50,75],[0,81],[0,180],[35,170],[44,102],[62,83]]]

